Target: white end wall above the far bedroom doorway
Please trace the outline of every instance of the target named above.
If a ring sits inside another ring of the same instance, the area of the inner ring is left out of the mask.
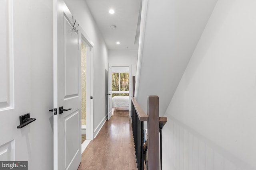
[[[109,50],[110,64],[132,64],[132,76],[136,76],[138,50]]]

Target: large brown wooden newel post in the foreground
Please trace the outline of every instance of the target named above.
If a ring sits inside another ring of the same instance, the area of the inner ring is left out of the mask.
[[[159,168],[159,98],[148,96],[148,170]]]

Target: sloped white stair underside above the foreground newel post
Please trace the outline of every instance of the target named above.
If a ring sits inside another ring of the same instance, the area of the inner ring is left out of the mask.
[[[163,116],[217,0],[148,0],[138,95],[159,96]]]

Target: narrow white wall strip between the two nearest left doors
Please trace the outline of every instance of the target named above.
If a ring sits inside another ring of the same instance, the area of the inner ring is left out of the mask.
[[[36,118],[31,128],[28,169],[50,170],[53,167],[53,112],[48,110],[53,108],[53,3],[52,0],[30,0],[30,8],[22,10],[30,11],[30,25],[24,24],[24,27],[30,35],[31,114]],[[39,166],[42,162],[44,165]]]

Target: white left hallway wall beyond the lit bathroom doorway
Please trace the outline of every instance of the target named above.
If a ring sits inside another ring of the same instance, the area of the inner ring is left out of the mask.
[[[70,12],[94,43],[94,135],[98,133],[100,123],[106,120],[105,69],[108,70],[108,48],[92,17],[85,0],[64,0]]]

